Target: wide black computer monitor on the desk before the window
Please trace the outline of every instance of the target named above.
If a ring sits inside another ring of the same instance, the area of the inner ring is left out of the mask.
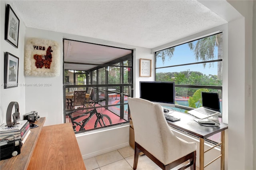
[[[175,83],[172,81],[140,81],[140,98],[161,106],[175,107]]]

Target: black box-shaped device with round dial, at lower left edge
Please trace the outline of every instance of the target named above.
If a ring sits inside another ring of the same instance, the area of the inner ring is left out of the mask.
[[[1,140],[0,142],[0,160],[11,158],[20,154],[20,148],[22,146],[21,138],[13,140]]]

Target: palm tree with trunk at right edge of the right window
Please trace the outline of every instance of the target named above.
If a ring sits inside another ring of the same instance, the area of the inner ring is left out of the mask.
[[[203,61],[214,59],[214,47],[218,47],[218,59],[222,59],[222,34],[216,34],[202,38],[194,44],[193,42],[188,43],[191,50],[194,51],[196,60],[201,59]],[[204,68],[206,63],[203,64]],[[210,63],[209,67],[212,64]],[[218,62],[218,79],[222,80],[222,62]]]

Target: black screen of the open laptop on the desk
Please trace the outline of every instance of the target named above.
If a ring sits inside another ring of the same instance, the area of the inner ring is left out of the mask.
[[[202,91],[202,106],[220,112],[219,93]]]

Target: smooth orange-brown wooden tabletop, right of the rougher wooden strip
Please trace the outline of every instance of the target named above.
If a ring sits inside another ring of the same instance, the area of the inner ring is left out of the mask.
[[[71,123],[42,128],[28,170],[85,170]]]

